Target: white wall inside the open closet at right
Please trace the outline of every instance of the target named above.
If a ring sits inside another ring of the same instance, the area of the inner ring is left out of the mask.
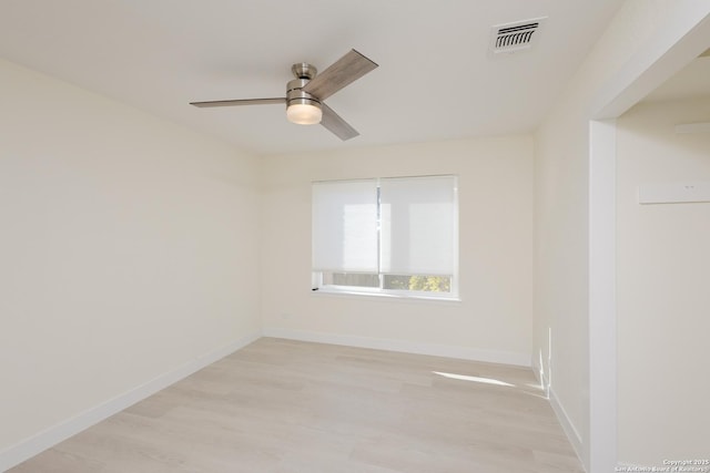
[[[706,459],[710,203],[639,205],[638,186],[710,182],[710,97],[649,102],[617,124],[619,460]]]

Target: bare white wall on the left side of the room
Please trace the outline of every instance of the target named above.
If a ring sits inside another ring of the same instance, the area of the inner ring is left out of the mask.
[[[254,158],[9,62],[0,83],[2,460],[256,336],[260,281]]]

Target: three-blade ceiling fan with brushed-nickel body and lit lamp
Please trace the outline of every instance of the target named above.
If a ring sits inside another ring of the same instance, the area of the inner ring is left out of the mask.
[[[199,107],[233,105],[286,104],[286,117],[302,125],[321,123],[341,140],[349,140],[359,133],[324,103],[335,92],[377,68],[377,64],[355,50],[335,61],[321,74],[306,63],[293,64],[291,71],[296,79],[286,84],[286,96],[275,99],[216,100],[211,102],[191,102]]]

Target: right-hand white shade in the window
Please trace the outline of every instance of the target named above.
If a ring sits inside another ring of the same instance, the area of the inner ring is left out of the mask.
[[[458,248],[455,176],[381,179],[381,271],[450,276]]]

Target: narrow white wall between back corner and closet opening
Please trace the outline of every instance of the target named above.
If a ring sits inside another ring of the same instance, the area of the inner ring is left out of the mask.
[[[538,132],[535,156],[534,361],[582,456],[589,399],[586,124],[578,110],[568,110]]]

